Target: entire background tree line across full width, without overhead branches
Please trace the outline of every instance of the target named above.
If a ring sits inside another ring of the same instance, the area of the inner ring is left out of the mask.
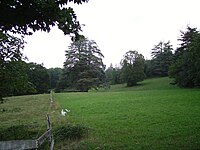
[[[200,85],[200,32],[196,28],[187,27],[185,32],[181,32],[178,39],[180,45],[175,50],[169,41],[161,41],[152,48],[151,60],[145,60],[136,50],[129,50],[118,67],[111,64],[107,69],[97,43],[88,38],[82,37],[70,44],[65,51],[66,61],[63,68],[50,69],[41,64],[18,60],[17,57],[22,57],[20,53],[13,54],[10,60],[4,57],[4,50],[8,46],[12,49],[23,48],[23,41],[9,38],[0,43],[1,97],[47,93],[50,89],[55,89],[56,92],[87,92],[121,83],[134,86],[146,78],[164,76],[173,78],[173,84],[181,87]]]

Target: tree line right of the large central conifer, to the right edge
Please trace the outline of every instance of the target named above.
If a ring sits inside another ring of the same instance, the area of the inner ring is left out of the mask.
[[[138,68],[130,69],[131,64],[132,67],[137,64],[136,62],[135,64],[133,63],[133,61],[137,60],[133,55],[132,62],[127,60],[124,63],[123,60],[118,67],[113,67],[111,64],[105,71],[107,82],[110,84],[119,84],[126,81],[127,85],[131,85],[131,82],[133,82],[130,79],[131,77],[140,81],[145,78],[169,76],[174,79],[172,84],[177,84],[180,87],[199,87],[200,32],[197,28],[188,26],[186,31],[181,31],[178,41],[180,44],[176,49],[173,49],[170,41],[161,41],[155,45],[151,49],[152,59],[143,59],[140,73],[137,72]],[[125,55],[126,59],[131,58],[130,52],[128,52],[128,56],[126,56],[127,54]],[[136,74],[138,74],[138,77]],[[142,78],[140,79],[139,77]]]

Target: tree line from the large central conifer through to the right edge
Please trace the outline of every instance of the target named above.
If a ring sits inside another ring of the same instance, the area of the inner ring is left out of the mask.
[[[166,77],[180,87],[199,87],[200,84],[200,32],[187,27],[181,31],[178,48],[170,41],[160,41],[151,49],[151,60],[136,50],[127,51],[118,67],[111,64],[105,69],[103,55],[94,41],[82,39],[73,42],[66,51],[64,73],[57,91],[88,91],[109,87],[111,84],[137,85],[146,78]],[[92,45],[92,46],[91,46]],[[97,57],[99,54],[99,57]],[[91,63],[93,62],[93,63]]]

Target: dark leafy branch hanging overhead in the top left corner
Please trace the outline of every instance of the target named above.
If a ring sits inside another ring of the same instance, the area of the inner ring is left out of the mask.
[[[79,36],[81,25],[69,2],[82,4],[88,0],[9,0],[0,1],[0,29],[2,32],[31,35],[42,30],[49,32],[58,25],[64,34]]]

